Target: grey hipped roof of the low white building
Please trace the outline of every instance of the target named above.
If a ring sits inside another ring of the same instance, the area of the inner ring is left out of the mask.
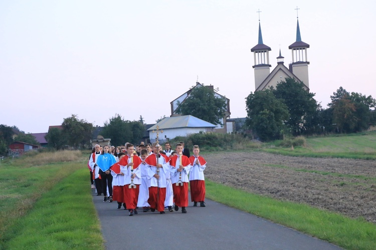
[[[159,129],[168,129],[168,128],[181,128],[181,127],[216,127],[217,125],[210,123],[208,121],[197,118],[193,115],[180,115],[166,117],[158,123],[154,124],[152,127],[147,129],[148,131],[156,129],[156,126],[159,126]]]

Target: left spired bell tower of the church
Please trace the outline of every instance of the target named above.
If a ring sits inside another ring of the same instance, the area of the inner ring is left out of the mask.
[[[262,41],[261,24],[259,20],[259,43],[251,48],[255,60],[255,65],[252,66],[255,69],[255,89],[257,89],[270,74],[270,67],[272,66],[269,64],[270,50],[272,49]]]

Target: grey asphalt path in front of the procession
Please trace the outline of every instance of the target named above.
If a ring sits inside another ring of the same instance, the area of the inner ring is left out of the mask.
[[[93,194],[95,195],[95,194]],[[340,249],[326,241],[272,223],[253,214],[206,200],[206,207],[190,206],[160,214],[129,216],[117,202],[93,196],[105,246],[115,249]]]

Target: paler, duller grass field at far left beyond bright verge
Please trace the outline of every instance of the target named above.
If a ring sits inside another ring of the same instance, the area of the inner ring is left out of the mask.
[[[30,160],[32,162],[33,160]],[[25,167],[17,161],[0,167],[0,248],[9,234],[8,227],[24,216],[41,195],[82,163],[53,163]]]

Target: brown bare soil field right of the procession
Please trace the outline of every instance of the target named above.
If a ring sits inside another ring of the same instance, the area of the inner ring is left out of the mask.
[[[376,223],[376,161],[265,152],[203,155],[210,180]]]

